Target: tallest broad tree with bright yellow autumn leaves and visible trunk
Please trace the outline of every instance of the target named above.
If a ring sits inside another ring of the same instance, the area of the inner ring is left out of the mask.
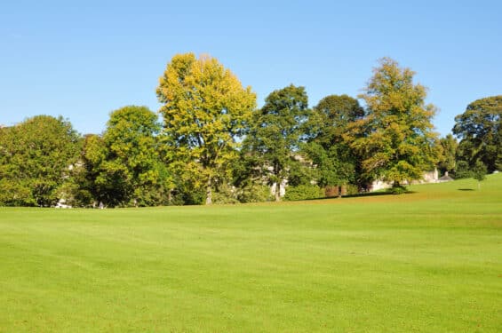
[[[214,186],[229,177],[239,156],[256,95],[217,59],[193,53],[171,59],[156,92],[168,163],[179,178],[205,187],[211,204]]]

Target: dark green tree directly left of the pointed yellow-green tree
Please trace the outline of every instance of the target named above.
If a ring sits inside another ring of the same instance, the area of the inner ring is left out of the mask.
[[[314,107],[306,124],[308,141],[304,152],[316,165],[319,186],[355,182],[358,161],[343,134],[348,125],[361,119],[364,109],[347,95],[327,96]]]

